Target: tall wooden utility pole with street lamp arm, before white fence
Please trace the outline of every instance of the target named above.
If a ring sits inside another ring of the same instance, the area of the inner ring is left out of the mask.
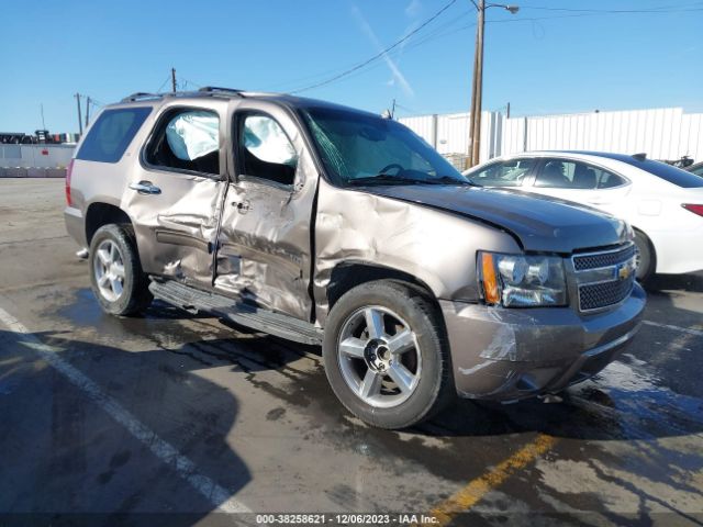
[[[520,8],[517,5],[505,5],[502,3],[486,3],[486,0],[471,0],[478,11],[478,23],[476,24],[476,53],[473,55],[473,81],[471,83],[471,113],[469,115],[469,152],[467,168],[478,165],[481,152],[481,102],[483,97],[483,30],[486,26],[486,10],[488,8],[503,8],[515,14]]]

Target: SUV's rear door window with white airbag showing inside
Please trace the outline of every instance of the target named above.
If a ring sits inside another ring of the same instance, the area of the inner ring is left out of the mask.
[[[220,117],[210,110],[179,110],[161,120],[146,150],[149,165],[220,173]]]

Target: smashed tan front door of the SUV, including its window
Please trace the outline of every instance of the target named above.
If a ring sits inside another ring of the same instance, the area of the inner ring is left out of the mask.
[[[298,123],[266,101],[233,101],[232,181],[215,288],[246,303],[312,316],[311,214],[317,170]]]

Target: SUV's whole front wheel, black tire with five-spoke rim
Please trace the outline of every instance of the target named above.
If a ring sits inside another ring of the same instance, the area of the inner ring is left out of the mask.
[[[380,280],[344,294],[327,317],[323,359],[339,401],[380,428],[425,421],[456,393],[440,314],[411,284]]]

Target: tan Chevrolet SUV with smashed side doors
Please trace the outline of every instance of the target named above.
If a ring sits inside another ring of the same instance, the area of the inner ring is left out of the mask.
[[[622,221],[473,187],[400,123],[310,99],[131,96],[66,198],[107,313],[157,298],[322,345],[337,397],[384,428],[587,379],[645,305]]]

